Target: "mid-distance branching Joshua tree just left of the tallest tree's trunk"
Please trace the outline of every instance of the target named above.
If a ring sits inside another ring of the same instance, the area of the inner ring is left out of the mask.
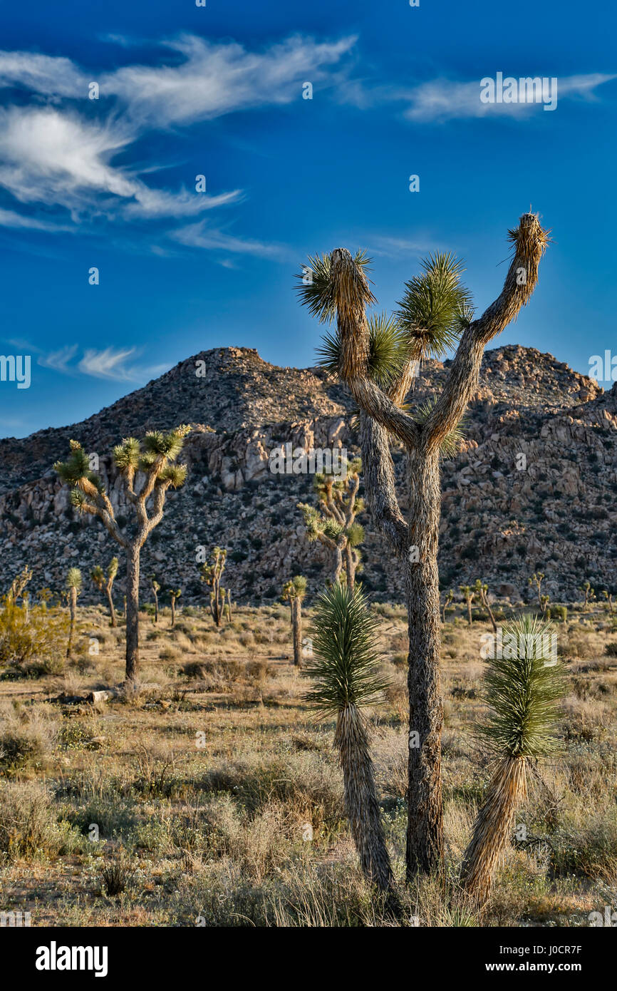
[[[358,497],[360,458],[348,461],[346,467],[346,478],[330,473],[316,475],[318,507],[298,502],[298,509],[304,516],[308,539],[321,541],[333,552],[332,582],[340,581],[345,569],[347,583],[353,589],[360,565],[358,548],[364,539],[364,529],[356,521],[364,511],[364,500]]]

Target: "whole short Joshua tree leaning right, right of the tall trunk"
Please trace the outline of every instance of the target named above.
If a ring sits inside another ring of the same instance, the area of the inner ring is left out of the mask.
[[[489,744],[497,766],[462,868],[464,886],[480,903],[488,898],[516,811],[527,796],[528,762],[556,748],[555,720],[565,682],[563,665],[546,649],[552,628],[550,622],[525,614],[504,627],[504,641],[514,635],[518,649],[503,653],[515,656],[488,660],[483,696],[490,716],[476,731]]]

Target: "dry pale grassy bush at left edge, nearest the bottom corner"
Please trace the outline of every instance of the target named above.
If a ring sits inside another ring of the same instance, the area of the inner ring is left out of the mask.
[[[61,818],[45,785],[0,781],[0,852],[9,859],[47,860],[83,845],[83,837]]]

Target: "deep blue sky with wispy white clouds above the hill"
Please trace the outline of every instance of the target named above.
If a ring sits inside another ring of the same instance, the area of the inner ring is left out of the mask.
[[[32,356],[0,436],[211,347],[313,364],[293,274],[338,245],[367,249],[384,309],[452,249],[481,310],[530,205],[554,244],[496,344],[617,356],[616,21],[597,0],[0,4],[0,353]],[[497,72],[556,77],[556,109],[482,104]]]

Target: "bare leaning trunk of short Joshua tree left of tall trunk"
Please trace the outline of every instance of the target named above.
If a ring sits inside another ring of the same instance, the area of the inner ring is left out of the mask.
[[[388,891],[392,871],[381,828],[366,727],[354,705],[337,718],[335,746],[343,769],[345,810],[362,871],[380,891]]]

